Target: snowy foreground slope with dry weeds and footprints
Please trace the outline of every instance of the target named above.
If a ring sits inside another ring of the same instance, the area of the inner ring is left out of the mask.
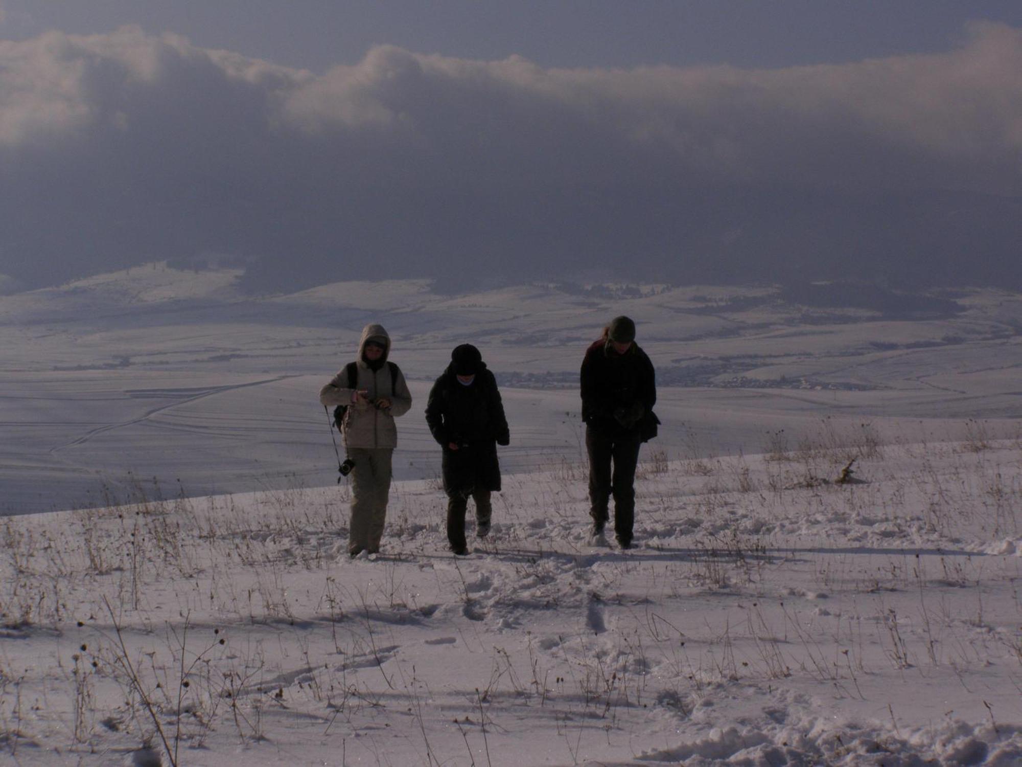
[[[8,517],[0,763],[1019,764],[1022,442],[777,447],[647,446],[629,551],[569,462],[466,558],[431,481]]]

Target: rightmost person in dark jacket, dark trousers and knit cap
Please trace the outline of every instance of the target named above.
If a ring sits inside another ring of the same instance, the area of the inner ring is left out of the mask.
[[[635,475],[644,423],[655,422],[656,376],[653,363],[635,343],[636,325],[615,317],[582,363],[582,418],[589,453],[592,534],[602,539],[610,496],[614,534],[631,548],[635,525]]]

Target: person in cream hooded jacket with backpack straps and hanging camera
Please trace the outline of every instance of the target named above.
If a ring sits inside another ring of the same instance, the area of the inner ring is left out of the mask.
[[[370,323],[362,329],[356,379],[352,388],[346,369],[320,390],[325,407],[346,405],[343,434],[352,469],[352,523],[347,552],[376,553],[386,522],[390,493],[391,458],[398,446],[393,419],[412,407],[405,376],[394,366],[391,374],[390,336],[382,325]]]

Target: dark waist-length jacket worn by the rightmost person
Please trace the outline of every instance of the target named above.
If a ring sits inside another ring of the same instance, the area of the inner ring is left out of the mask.
[[[582,419],[590,428],[607,437],[640,436],[656,404],[656,373],[638,345],[615,354],[596,342],[586,350],[579,381]]]

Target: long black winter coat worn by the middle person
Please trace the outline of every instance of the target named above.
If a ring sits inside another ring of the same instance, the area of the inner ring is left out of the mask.
[[[507,445],[510,434],[497,379],[484,363],[467,387],[458,381],[453,364],[448,366],[429,392],[426,423],[444,448],[444,489],[449,494],[501,489],[497,445]],[[458,450],[451,450],[452,442]]]

